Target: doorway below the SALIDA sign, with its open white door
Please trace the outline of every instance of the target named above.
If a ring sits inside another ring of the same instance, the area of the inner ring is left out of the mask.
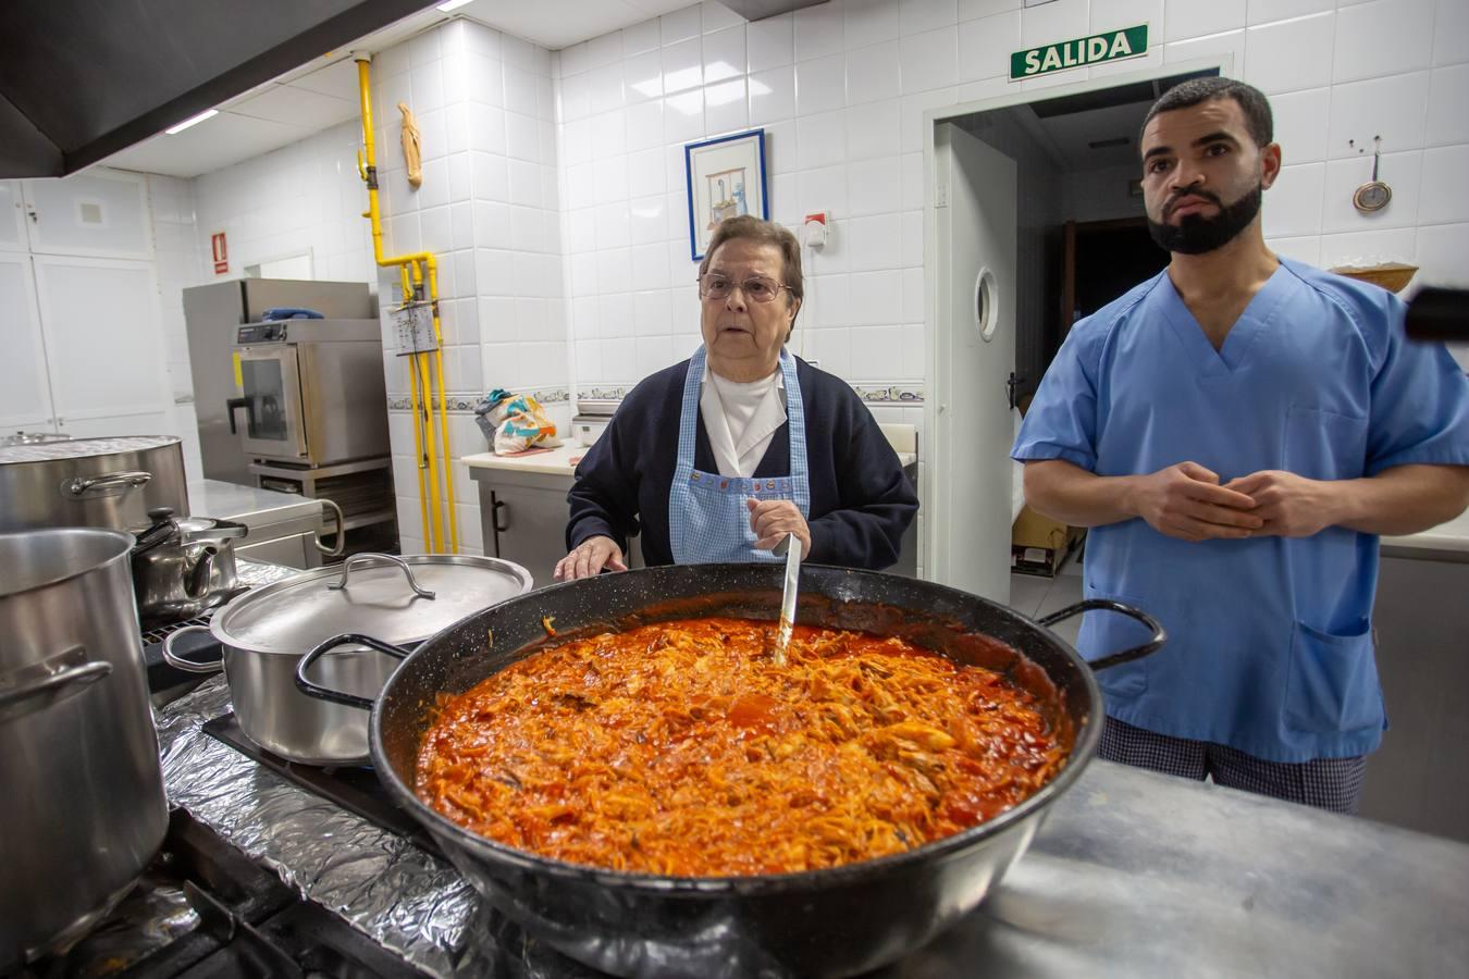
[[[1147,109],[1181,81],[1231,68],[1222,56],[925,114],[923,577],[1012,603],[1021,410],[1072,323],[1168,264],[1138,183]],[[1074,589],[1018,592],[1059,608],[1080,597],[1077,562],[1069,574]]]

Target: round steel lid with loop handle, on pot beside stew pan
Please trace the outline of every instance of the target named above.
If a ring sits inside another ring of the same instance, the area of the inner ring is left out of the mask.
[[[363,553],[248,592],[210,628],[237,649],[291,656],[341,633],[401,646],[530,589],[529,571],[498,558]]]

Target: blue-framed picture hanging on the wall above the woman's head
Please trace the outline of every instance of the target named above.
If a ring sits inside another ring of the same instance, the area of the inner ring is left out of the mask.
[[[751,129],[683,147],[689,185],[689,252],[695,261],[726,217],[755,214],[770,220],[765,195],[765,131]]]

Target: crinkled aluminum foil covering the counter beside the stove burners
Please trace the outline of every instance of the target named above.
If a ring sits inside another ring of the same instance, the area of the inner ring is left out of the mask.
[[[457,870],[201,731],[226,710],[223,677],[159,710],[170,806],[410,964],[435,976],[505,975],[505,963],[494,961],[502,945],[486,933],[479,895]]]

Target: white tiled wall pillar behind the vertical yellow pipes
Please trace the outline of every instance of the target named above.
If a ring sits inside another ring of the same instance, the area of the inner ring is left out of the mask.
[[[557,188],[552,56],[498,31],[454,21],[373,63],[378,167],[386,254],[427,250],[439,263],[445,387],[455,456],[488,445],[467,410],[494,387],[529,390],[570,433],[570,351]],[[423,185],[407,182],[401,113],[422,135]],[[358,194],[366,197],[360,189]],[[379,295],[398,301],[397,272]],[[385,330],[388,395],[408,396],[407,361]],[[389,412],[398,528],[423,549],[411,415]],[[479,498],[454,464],[460,550],[480,553]],[[447,501],[445,501],[447,502]]]

